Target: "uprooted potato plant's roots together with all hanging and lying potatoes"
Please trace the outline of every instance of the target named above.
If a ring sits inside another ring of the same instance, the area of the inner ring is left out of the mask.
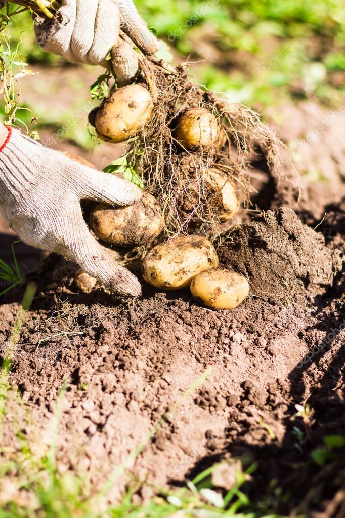
[[[38,0],[30,3],[50,18],[58,7],[55,1],[44,9],[40,5]],[[207,307],[235,307],[249,285],[234,272],[212,270],[219,261],[206,237],[213,239],[219,223],[231,220],[241,203],[248,204],[247,166],[254,150],[260,148],[267,165],[280,174],[281,142],[252,110],[193,83],[186,66],[173,68],[138,52],[124,32],[119,45],[137,52],[139,71],[131,84],[116,82],[115,64],[101,76],[100,105],[89,122],[102,140],[128,141],[121,172],[130,171],[130,179],[145,193],[126,208],[94,205],[90,226],[102,241],[117,247],[157,243],[160,233],[162,239],[174,236],[147,253],[144,279],[166,290],[192,283],[193,296]]]

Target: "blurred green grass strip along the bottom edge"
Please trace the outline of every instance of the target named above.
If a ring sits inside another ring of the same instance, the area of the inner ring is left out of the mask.
[[[17,483],[18,496],[9,500],[6,505],[0,507],[0,516],[3,518],[20,518],[29,516],[69,518],[70,516],[82,516],[83,518],[97,517],[140,517],[153,518],[155,516],[172,516],[177,511],[183,511],[182,516],[198,516],[198,511],[203,516],[216,518],[220,516],[244,516],[246,518],[259,518],[259,516],[278,516],[266,514],[258,510],[250,510],[251,504],[248,497],[241,491],[241,486],[253,471],[250,466],[245,472],[237,472],[237,480],[232,489],[224,496],[213,488],[211,477],[218,465],[207,469],[198,477],[187,482],[187,485],[175,491],[162,491],[159,496],[139,505],[133,503],[133,492],[139,488],[139,484],[132,484],[125,492],[122,501],[116,506],[104,503],[106,500],[102,492],[91,495],[89,493],[89,481],[87,478],[76,477],[71,472],[59,474],[55,467],[54,451],[50,451],[42,457],[39,463],[35,463],[32,452],[23,446],[19,462],[11,462],[6,465],[8,471],[23,469],[32,471],[31,477]],[[20,466],[21,463],[21,466]],[[5,470],[4,470],[5,471]],[[19,478],[17,479],[17,481]],[[23,505],[29,501],[30,504]],[[243,512],[240,509],[243,509]],[[101,509],[101,510],[100,510]]]

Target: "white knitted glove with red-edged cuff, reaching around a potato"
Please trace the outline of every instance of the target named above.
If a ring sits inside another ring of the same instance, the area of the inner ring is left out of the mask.
[[[9,130],[0,148],[0,212],[27,244],[77,262],[115,293],[137,296],[138,280],[116,264],[83,219],[81,199],[116,206],[140,199],[136,185],[99,172]]]

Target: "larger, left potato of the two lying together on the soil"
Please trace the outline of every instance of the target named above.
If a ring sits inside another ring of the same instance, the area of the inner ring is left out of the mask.
[[[157,244],[146,255],[142,276],[161,290],[181,290],[201,271],[218,266],[213,244],[202,236],[176,237]]]

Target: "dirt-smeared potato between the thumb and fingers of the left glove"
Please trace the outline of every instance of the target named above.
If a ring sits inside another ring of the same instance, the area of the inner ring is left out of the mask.
[[[141,199],[129,207],[116,209],[98,203],[91,210],[89,223],[102,241],[128,247],[152,241],[161,232],[164,219],[157,200],[144,192]]]

